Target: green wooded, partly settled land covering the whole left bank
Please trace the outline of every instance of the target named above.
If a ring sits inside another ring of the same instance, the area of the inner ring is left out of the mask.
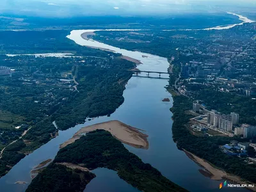
[[[6,31],[0,33],[7,35]],[[8,31],[8,34],[10,41],[6,42],[2,35],[0,38],[2,53],[72,52],[81,58],[0,56],[0,65],[17,72],[17,76],[3,76],[0,81],[0,114],[3,114],[0,147],[3,149],[17,140],[3,151],[0,176],[26,154],[57,136],[58,129],[83,123],[87,117],[111,115],[124,102],[122,93],[132,72],[109,69],[135,67],[131,61],[119,58],[120,54],[76,45],[65,38],[67,31]],[[58,83],[61,74],[67,72],[79,83],[78,91]],[[54,121],[58,129],[52,124]],[[14,128],[21,124],[26,126]],[[31,129],[22,136],[28,128]]]

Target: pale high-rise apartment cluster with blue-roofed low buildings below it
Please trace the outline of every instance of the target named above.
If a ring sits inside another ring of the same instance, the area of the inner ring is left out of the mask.
[[[193,103],[193,113],[198,116],[191,118],[191,129],[204,132],[205,136],[237,136],[238,138],[252,139],[256,136],[256,126],[239,124],[239,114],[221,114],[216,110],[207,111],[204,105],[198,101]],[[252,140],[249,140],[252,141]],[[236,140],[220,146],[228,156],[247,157],[248,147],[256,149],[256,144],[250,142],[238,142]],[[256,158],[248,157],[248,163],[256,161]]]

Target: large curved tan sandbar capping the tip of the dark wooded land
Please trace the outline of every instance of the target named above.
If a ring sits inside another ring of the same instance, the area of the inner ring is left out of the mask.
[[[60,145],[60,148],[66,147],[68,144],[74,143],[74,141],[79,140],[79,138],[81,138],[84,133],[95,131],[97,129],[109,131],[112,136],[114,136],[117,140],[132,147],[144,149],[148,148],[148,136],[147,134],[143,134],[141,132],[143,130],[136,129],[135,127],[131,127],[130,125],[119,122],[118,120],[112,120],[101,124],[83,127],[79,131],[77,131],[70,140]]]

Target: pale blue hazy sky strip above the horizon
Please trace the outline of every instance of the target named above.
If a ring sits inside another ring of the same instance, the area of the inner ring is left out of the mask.
[[[1,13],[45,17],[168,15],[177,12],[256,10],[256,0],[1,0]],[[255,11],[256,12],[256,11]]]

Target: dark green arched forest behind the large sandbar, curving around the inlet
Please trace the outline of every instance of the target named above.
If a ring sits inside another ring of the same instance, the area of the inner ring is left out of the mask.
[[[51,166],[48,166],[42,173],[33,179],[27,191],[60,191],[56,186],[63,183],[63,179],[56,180],[53,172],[57,163],[83,164],[89,170],[95,168],[108,168],[117,172],[121,179],[138,188],[140,191],[186,191],[170,180],[148,163],[127,150],[124,145],[113,138],[107,131],[97,130],[86,134],[74,143],[61,148]],[[62,172],[62,171],[61,171]],[[62,175],[62,173],[60,173]],[[58,177],[59,178],[59,177]],[[56,182],[56,185],[49,187],[48,183]],[[71,183],[72,184],[72,183]],[[76,185],[81,185],[77,182]],[[77,186],[78,188],[78,186]],[[84,188],[81,190],[83,191]]]

